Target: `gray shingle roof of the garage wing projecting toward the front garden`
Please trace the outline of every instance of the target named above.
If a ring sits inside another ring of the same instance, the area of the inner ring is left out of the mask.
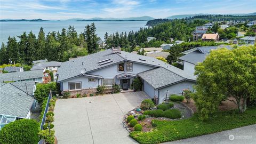
[[[155,89],[186,79],[165,68],[155,68],[139,73],[138,75]]]

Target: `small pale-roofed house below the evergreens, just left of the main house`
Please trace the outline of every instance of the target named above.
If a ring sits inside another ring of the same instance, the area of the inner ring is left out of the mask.
[[[56,72],[60,65],[61,62],[58,61],[40,62],[36,63],[30,70],[50,70]]]

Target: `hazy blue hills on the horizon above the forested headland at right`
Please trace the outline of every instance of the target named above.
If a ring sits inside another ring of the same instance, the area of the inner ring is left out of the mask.
[[[209,13],[180,14],[180,15],[172,15],[171,17],[167,17],[166,19],[185,19],[185,18],[189,18],[189,17],[195,17],[198,15],[220,15],[220,14],[209,14]],[[254,12],[254,13],[231,13],[231,14],[225,14],[225,15],[247,16],[247,15],[256,15],[256,12]]]

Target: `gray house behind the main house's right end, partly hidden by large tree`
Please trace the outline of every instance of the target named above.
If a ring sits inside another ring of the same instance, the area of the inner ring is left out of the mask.
[[[178,63],[183,65],[183,70],[186,71],[186,73],[194,74],[195,73],[195,65],[197,65],[198,62],[203,62],[207,56],[207,54],[210,53],[211,50],[216,50],[221,47],[226,47],[227,49],[232,49],[231,46],[201,46],[196,47],[194,49],[182,52],[182,57],[179,58]]]

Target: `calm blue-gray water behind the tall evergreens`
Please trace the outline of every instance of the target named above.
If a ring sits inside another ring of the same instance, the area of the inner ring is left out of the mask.
[[[118,31],[118,33],[129,31],[137,31],[141,27],[146,27],[147,21],[42,21],[42,22],[0,22],[0,41],[7,43],[9,36],[21,35],[23,31],[28,34],[30,31],[36,36],[41,27],[44,28],[45,35],[50,31],[60,31],[62,28],[68,29],[69,26],[74,26],[77,33],[83,33],[85,26],[95,23],[97,28],[96,34],[103,40],[107,32],[109,35]]]

